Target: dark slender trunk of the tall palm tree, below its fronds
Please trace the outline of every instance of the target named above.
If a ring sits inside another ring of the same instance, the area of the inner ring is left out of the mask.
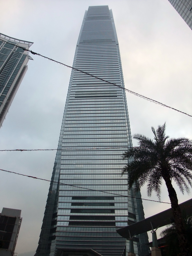
[[[175,192],[175,189],[172,186],[170,178],[167,177],[167,173],[166,173],[166,175],[163,175],[163,179],[165,180],[165,184],[167,186],[167,190],[169,193],[169,199],[171,202],[173,218],[174,218],[175,226],[177,229],[179,247],[180,247],[180,250],[182,253],[181,255],[189,256],[189,255],[191,255],[191,252],[189,251],[188,241],[187,241],[187,238],[185,235],[184,222],[183,222],[180,207],[178,205],[177,194]]]

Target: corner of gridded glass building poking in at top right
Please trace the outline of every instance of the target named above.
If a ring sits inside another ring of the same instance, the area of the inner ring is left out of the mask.
[[[192,0],[168,0],[192,29]]]

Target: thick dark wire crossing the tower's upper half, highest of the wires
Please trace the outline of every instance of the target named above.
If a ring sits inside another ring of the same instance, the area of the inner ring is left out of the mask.
[[[14,45],[14,44],[11,44],[10,42],[7,42],[7,43],[10,44],[10,45]],[[101,81],[103,81],[103,82],[106,82],[106,83],[109,83],[109,84],[113,84],[113,85],[115,85],[115,86],[117,86],[117,87],[119,87],[119,88],[121,88],[121,89],[123,89],[123,90],[129,92],[129,93],[132,93],[132,94],[134,94],[135,96],[138,96],[138,97],[140,97],[140,98],[143,98],[143,99],[145,99],[145,100],[151,101],[151,102],[153,102],[153,103],[159,104],[159,105],[164,106],[164,107],[169,108],[169,109],[173,109],[173,110],[175,110],[175,111],[177,111],[177,112],[180,112],[180,113],[183,113],[183,114],[185,114],[185,115],[188,115],[188,116],[192,117],[192,115],[189,115],[189,114],[187,114],[187,113],[185,113],[185,112],[183,112],[183,111],[180,111],[180,110],[178,110],[178,109],[172,108],[172,107],[170,107],[170,106],[168,106],[168,105],[165,105],[165,104],[163,104],[163,103],[161,103],[161,102],[159,102],[159,101],[153,100],[153,99],[151,99],[151,98],[145,97],[145,96],[142,95],[142,94],[133,92],[133,91],[131,91],[131,90],[129,90],[129,89],[126,89],[126,88],[124,88],[124,87],[122,87],[122,86],[119,86],[119,85],[117,85],[117,84],[115,84],[115,83],[112,83],[112,82],[106,81],[106,80],[104,80],[104,79],[102,79],[102,78],[93,76],[92,74],[89,74],[89,73],[87,73],[87,72],[84,72],[84,71],[79,70],[79,69],[76,69],[76,68],[73,68],[73,67],[71,67],[71,66],[68,66],[68,65],[62,63],[62,62],[59,62],[59,61],[56,61],[56,60],[54,60],[54,59],[48,58],[48,57],[43,56],[43,55],[41,55],[41,54],[39,54],[39,53],[36,53],[36,52],[34,52],[34,51],[25,49],[25,48],[23,48],[23,47],[21,47],[21,46],[18,46],[18,45],[14,45],[14,46],[19,47],[19,48],[21,48],[21,49],[23,49],[23,50],[25,50],[25,51],[29,51],[29,52],[31,52],[31,54],[33,54],[33,55],[41,56],[41,57],[43,57],[43,58],[45,58],[45,59],[48,59],[48,60],[54,61],[54,62],[56,62],[56,63],[58,63],[58,64],[61,64],[61,65],[65,66],[65,67],[68,67],[68,68],[71,68],[71,69],[73,69],[73,70],[79,71],[79,72],[81,72],[81,73],[87,74],[88,76],[94,77],[94,78],[99,79],[99,80],[101,80]]]

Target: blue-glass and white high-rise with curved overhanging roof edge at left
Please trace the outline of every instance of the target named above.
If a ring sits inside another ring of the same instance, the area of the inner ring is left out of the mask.
[[[0,127],[32,59],[28,51],[17,46],[29,49],[32,44],[0,34]]]

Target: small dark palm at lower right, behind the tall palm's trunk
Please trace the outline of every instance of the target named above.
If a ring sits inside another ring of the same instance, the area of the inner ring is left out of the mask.
[[[192,216],[187,216],[183,218],[184,220],[184,227],[185,227],[185,234],[188,241],[192,240]],[[181,251],[178,244],[178,237],[177,237],[177,230],[176,225],[173,222],[172,224],[168,225],[166,229],[164,229],[160,236],[165,239],[166,243],[166,252],[169,256],[180,255]],[[192,244],[189,244],[190,255],[192,254]]]

